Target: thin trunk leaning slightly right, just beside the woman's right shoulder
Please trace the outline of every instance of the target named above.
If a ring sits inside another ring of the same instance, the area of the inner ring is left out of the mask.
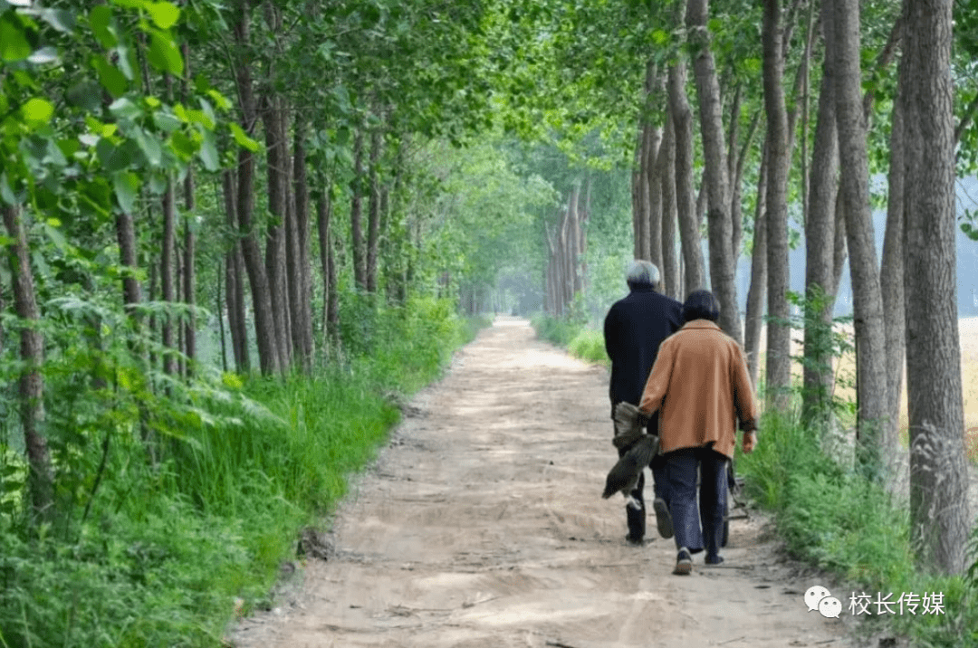
[[[750,260],[750,287],[747,289],[747,313],[744,315],[743,349],[747,355],[750,379],[757,386],[761,367],[761,330],[764,326],[764,302],[768,293],[768,142],[765,138],[761,168],[757,173],[757,199],[754,208],[754,250]]]

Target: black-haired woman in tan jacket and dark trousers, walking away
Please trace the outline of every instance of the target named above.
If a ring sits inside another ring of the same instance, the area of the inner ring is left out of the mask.
[[[659,412],[669,511],[678,555],[674,574],[692,571],[692,553],[706,549],[719,565],[727,502],[727,464],[739,421],[743,452],[757,443],[757,406],[740,346],[716,324],[720,305],[709,290],[683,304],[683,325],[659,347],[640,410]],[[696,510],[696,472],[700,473]],[[702,522],[702,530],[700,530]]]

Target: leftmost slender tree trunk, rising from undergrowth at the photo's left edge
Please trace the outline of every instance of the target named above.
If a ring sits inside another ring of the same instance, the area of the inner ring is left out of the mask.
[[[41,312],[37,306],[34,276],[30,269],[30,249],[20,207],[4,204],[3,222],[7,228],[7,256],[14,286],[17,315],[21,326],[21,376],[18,393],[21,400],[21,426],[27,454],[27,492],[30,507],[39,521],[54,518],[54,469],[48,441],[44,436],[44,336],[38,323]]]

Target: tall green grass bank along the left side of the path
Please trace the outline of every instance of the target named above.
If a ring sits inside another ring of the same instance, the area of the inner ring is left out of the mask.
[[[444,301],[353,308],[370,325],[311,378],[201,379],[180,408],[157,404],[156,461],[120,417],[97,493],[102,446],[75,439],[89,458],[63,499],[92,499],[84,521],[67,507],[70,521],[31,529],[0,510],[0,646],[219,646],[236,613],[268,606],[300,530],[324,524],[397,421],[390,395],[437,377],[474,334]]]

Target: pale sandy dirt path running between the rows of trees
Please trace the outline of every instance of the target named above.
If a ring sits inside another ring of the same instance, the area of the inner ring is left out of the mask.
[[[622,499],[600,498],[616,458],[606,385],[526,322],[497,320],[353,487],[333,555],[234,645],[848,645],[756,520],[734,520],[725,566],[697,556],[691,577],[671,575],[672,540],[626,544]]]

